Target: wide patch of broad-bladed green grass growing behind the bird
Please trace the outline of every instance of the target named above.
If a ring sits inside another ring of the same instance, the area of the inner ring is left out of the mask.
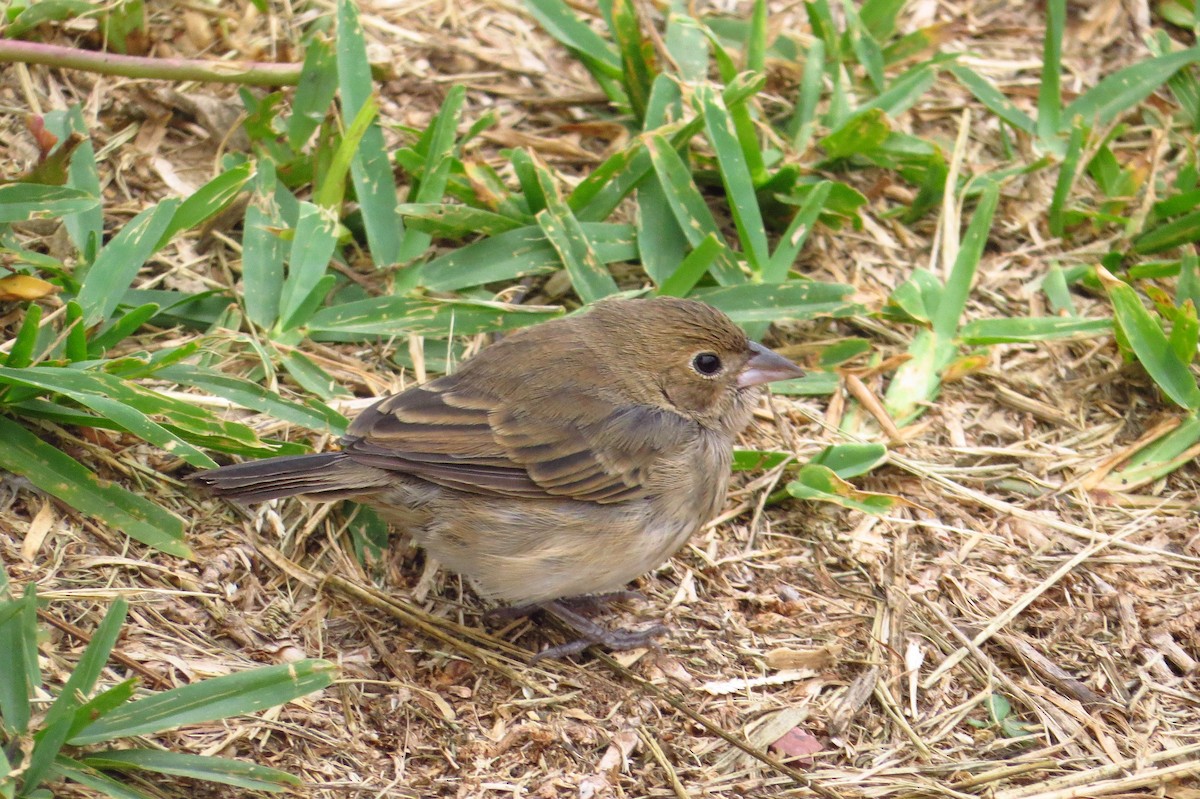
[[[612,103],[612,119],[632,134],[570,191],[562,175],[523,150],[509,154],[515,184],[464,158],[464,145],[493,120],[464,119],[461,88],[448,91],[425,130],[412,131],[409,145],[385,152],[366,44],[349,2],[338,4],[332,43],[311,40],[294,94],[242,92],[248,151],[228,154],[226,170],[186,200],[148,208],[115,234],[106,236],[95,154],[80,113],[47,115],[46,128],[64,145],[46,146],[43,164],[0,186],[0,222],[61,218],[78,266],[7,238],[5,271],[48,281],[67,306],[52,325],[41,324],[36,301],[29,306],[0,368],[0,410],[10,419],[125,431],[193,467],[209,467],[210,452],[254,457],[296,447],[168,400],[145,380],[203,388],[247,409],[336,433],[346,421],[322,402],[343,391],[304,354],[305,341],[450,338],[535,324],[560,312],[496,301],[496,287],[522,278],[565,270],[583,304],[617,293],[695,296],[754,335],[768,322],[865,316],[871,311],[852,299],[850,286],[809,280],[794,265],[815,226],[860,224],[865,198],[854,175],[875,172],[914,192],[907,208],[884,215],[917,223],[944,206],[962,208],[970,218],[944,284],[914,269],[878,312],[911,325],[911,359],[893,376],[886,400],[904,425],[936,401],[948,370],[979,360],[991,344],[1103,336],[1114,329],[1108,319],[1073,314],[966,320],[1007,181],[1045,170],[1056,174],[1045,212],[1049,233],[1064,242],[1099,236],[1111,242],[1102,258],[1108,271],[1098,276],[1085,266],[1070,281],[1062,270],[1048,271],[1048,293],[1052,286],[1060,302],[1069,305],[1072,290],[1104,280],[1109,295],[1121,299],[1116,330],[1122,346],[1168,398],[1195,414],[1200,390],[1189,373],[1196,355],[1194,269],[1171,257],[1200,240],[1200,169],[1182,164],[1169,181],[1152,175],[1160,199],[1138,214],[1132,168],[1114,149],[1127,131],[1122,119],[1136,116],[1139,108],[1158,118],[1157,110],[1139,107],[1152,92],[1171,91],[1181,101],[1198,96],[1193,65],[1200,50],[1172,46],[1158,31],[1157,55],[1064,103],[1058,80],[1063,2],[1057,0],[1049,5],[1043,80],[1037,114],[1030,116],[979,73],[940,53],[931,32],[899,37],[900,2],[864,4],[844,28],[826,0],[809,4],[817,36],[806,50],[786,34],[768,37],[762,2],[744,20],[692,18],[677,4],[666,19],[670,61],[653,56],[647,20],[632,4],[602,7],[610,37],[562,4],[528,5],[592,72]],[[763,64],[782,56],[802,61],[805,72],[791,113],[768,118],[760,102]],[[720,80],[708,80],[712,73]],[[995,114],[1002,133],[1030,137],[1039,157],[1001,170],[952,172],[938,143],[898,131],[894,120],[946,78],[959,80]],[[1180,114],[1181,124],[1194,122]],[[460,136],[463,125],[469,127]],[[407,185],[401,203],[392,163]],[[48,185],[54,181],[62,185]],[[200,294],[136,287],[143,268],[173,239],[238,203],[245,204],[239,287]],[[731,226],[720,221],[726,216]],[[956,222],[944,217],[943,224]],[[959,233],[947,229],[946,235]],[[445,251],[437,242],[460,246]],[[1154,294],[1147,294],[1147,284],[1139,293],[1133,276],[1148,256],[1165,256],[1157,262],[1159,274],[1182,275],[1178,284],[1192,288],[1177,299],[1171,284],[1153,287]],[[349,257],[390,270],[391,292],[367,294],[331,268]],[[641,280],[625,272],[619,284],[611,272],[618,262],[641,263]],[[1136,314],[1146,298],[1157,316]],[[313,401],[287,402],[254,380],[223,373],[198,346],[138,353],[137,336],[146,324],[240,331],[216,332],[214,341],[258,360],[262,374],[282,370]],[[1166,337],[1172,347],[1163,350],[1159,340]],[[109,355],[130,344],[131,354]],[[49,444],[14,435],[24,444],[0,455],[5,468],[139,541],[186,557],[178,518],[120,485],[96,480]]]

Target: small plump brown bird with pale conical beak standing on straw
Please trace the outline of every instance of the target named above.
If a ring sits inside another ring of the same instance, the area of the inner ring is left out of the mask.
[[[194,479],[245,503],[366,503],[481,595],[581,635],[542,655],[628,649],[661,629],[606,630],[570,600],[619,593],[713,518],[761,386],[802,374],[702,302],[607,300],[380,400],[341,451]]]

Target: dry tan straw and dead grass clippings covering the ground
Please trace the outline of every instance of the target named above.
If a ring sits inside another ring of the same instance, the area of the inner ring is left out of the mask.
[[[773,24],[791,25],[802,10],[779,5],[788,8]],[[1039,5],[910,6],[907,24],[944,22],[946,49],[974,53],[972,64],[1010,96],[1036,94]],[[248,4],[229,7],[158,7],[154,34],[184,54],[292,52],[282,43],[300,19],[254,19]],[[1145,2],[1098,0],[1072,11],[1067,90],[1144,53]],[[533,148],[569,172],[614,143],[616,128],[582,104],[596,97],[583,70],[516,4],[395,0],[365,2],[364,12],[368,35],[395,64],[382,85],[385,120],[422,126],[444,86],[466,83],[468,120],[486,108],[499,115],[488,148]],[[218,18],[224,37],[215,32]],[[37,97],[49,109],[80,101],[97,149],[112,145],[103,169],[113,226],[198,185],[222,148],[235,146],[226,140],[235,104],[228,88],[40,68],[14,79],[22,72],[7,68],[0,102],[28,109]],[[792,96],[786,79],[782,67],[773,73],[780,102]],[[943,82],[905,124],[949,150],[968,109],[967,96]],[[961,155],[995,163],[989,116],[971,110]],[[19,161],[19,131],[2,136]],[[1146,131],[1147,160],[1156,142]],[[907,191],[860,180],[876,197]],[[1031,284],[1046,264],[1094,257],[1094,246],[1064,251],[1043,233],[1050,180],[1034,174],[1006,190],[972,318],[1037,314]],[[881,301],[941,245],[934,220],[902,228],[866,217],[862,232],[817,232],[804,265]],[[167,253],[148,280],[185,288],[238,258],[220,238]],[[846,334],[895,355],[910,331],[809,325],[779,343]],[[173,346],[180,335],[140,344]],[[337,358],[340,377],[360,395],[400,383],[384,353],[318,354]],[[868,377],[859,390],[878,395],[881,383]],[[868,431],[846,396],[776,397],[773,410],[779,422],[764,414],[749,440],[794,447],[802,458],[839,440],[840,425]],[[485,632],[481,606],[460,581],[425,573],[419,553],[402,546],[365,571],[344,540],[344,509],[289,501],[247,512],[202,499],[170,474],[148,479],[133,465],[170,471],[160,453],[103,433],[54,434],[85,463],[143,485],[192,519],[199,560],[148,553],[23,487],[0,510],[0,555],[18,583],[37,582],[49,615],[83,630],[107,600],[128,597],[118,649],[148,686],[296,656],[338,662],[340,681],[320,695],[162,738],[180,751],[296,773],[304,795],[1194,799],[1200,469],[1190,464],[1135,492],[1097,480],[1170,415],[1111,341],[995,347],[985,368],[947,386],[925,417],[900,431],[893,464],[860,481],[912,507],[887,518],[800,503],[760,509],[778,475],[758,475],[731,498],[744,512],[646,577],[644,607],[622,611],[634,621],[665,613],[674,635],[660,650],[616,661],[528,667],[529,649],[557,632],[524,621]],[[48,677],[65,678],[83,643],[50,627],[41,649]],[[128,672],[114,665],[108,679]],[[988,720],[994,693],[1012,702],[1028,734],[1006,738],[971,723]],[[769,745],[788,731],[815,737],[821,751],[780,764]]]

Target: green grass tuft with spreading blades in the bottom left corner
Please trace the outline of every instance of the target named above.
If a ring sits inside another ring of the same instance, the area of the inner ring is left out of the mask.
[[[334,665],[320,660],[266,666],[198,680],[133,699],[137,679],[100,690],[97,683],[121,633],[128,603],[118,599],[92,631],[88,648],[59,689],[54,702],[37,710],[47,686],[37,656],[38,597],[34,584],[13,595],[0,569],[0,795],[6,799],[52,797],[44,783],[74,782],[114,799],[156,795],[122,774],[187,776],[250,791],[280,792],[300,780],[278,769],[224,757],[206,757],[152,747],[97,749],[131,743],[142,735],[254,713],[326,687]],[[132,743],[137,743],[136,740]],[[154,782],[150,783],[152,786]]]

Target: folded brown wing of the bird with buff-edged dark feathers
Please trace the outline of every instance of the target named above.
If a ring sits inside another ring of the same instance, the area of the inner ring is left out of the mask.
[[[570,388],[554,402],[505,403],[451,376],[368,408],[346,452],[470,493],[614,503],[644,495],[654,464],[689,432],[685,419],[649,405]]]

